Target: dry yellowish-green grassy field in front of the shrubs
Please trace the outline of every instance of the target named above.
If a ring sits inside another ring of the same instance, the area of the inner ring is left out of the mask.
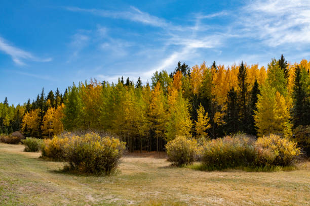
[[[309,205],[310,163],[289,172],[202,172],[154,153],[128,155],[109,177],[61,172],[23,145],[0,143],[0,205]]]

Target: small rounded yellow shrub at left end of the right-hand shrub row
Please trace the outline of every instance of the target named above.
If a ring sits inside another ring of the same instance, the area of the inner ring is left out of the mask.
[[[177,136],[166,145],[167,155],[172,165],[182,166],[192,164],[199,153],[196,139]]]

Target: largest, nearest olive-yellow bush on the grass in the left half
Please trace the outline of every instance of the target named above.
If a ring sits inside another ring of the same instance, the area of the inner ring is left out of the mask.
[[[109,175],[117,168],[124,151],[125,142],[88,133],[73,136],[68,141],[64,147],[64,159],[72,170]]]

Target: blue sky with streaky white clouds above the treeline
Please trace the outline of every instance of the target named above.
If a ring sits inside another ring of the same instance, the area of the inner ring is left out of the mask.
[[[146,82],[178,61],[266,66],[310,56],[310,2],[1,1],[0,101],[96,78]]]

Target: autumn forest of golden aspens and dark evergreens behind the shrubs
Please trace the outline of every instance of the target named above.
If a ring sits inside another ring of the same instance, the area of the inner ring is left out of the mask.
[[[309,152],[310,62],[288,63],[283,55],[267,68],[244,62],[153,73],[142,84],[96,79],[72,84],[64,93],[38,94],[23,105],[0,103],[0,133],[52,138],[63,131],[104,131],[130,151],[163,151],[177,135],[198,140],[246,133],[292,138]]]

